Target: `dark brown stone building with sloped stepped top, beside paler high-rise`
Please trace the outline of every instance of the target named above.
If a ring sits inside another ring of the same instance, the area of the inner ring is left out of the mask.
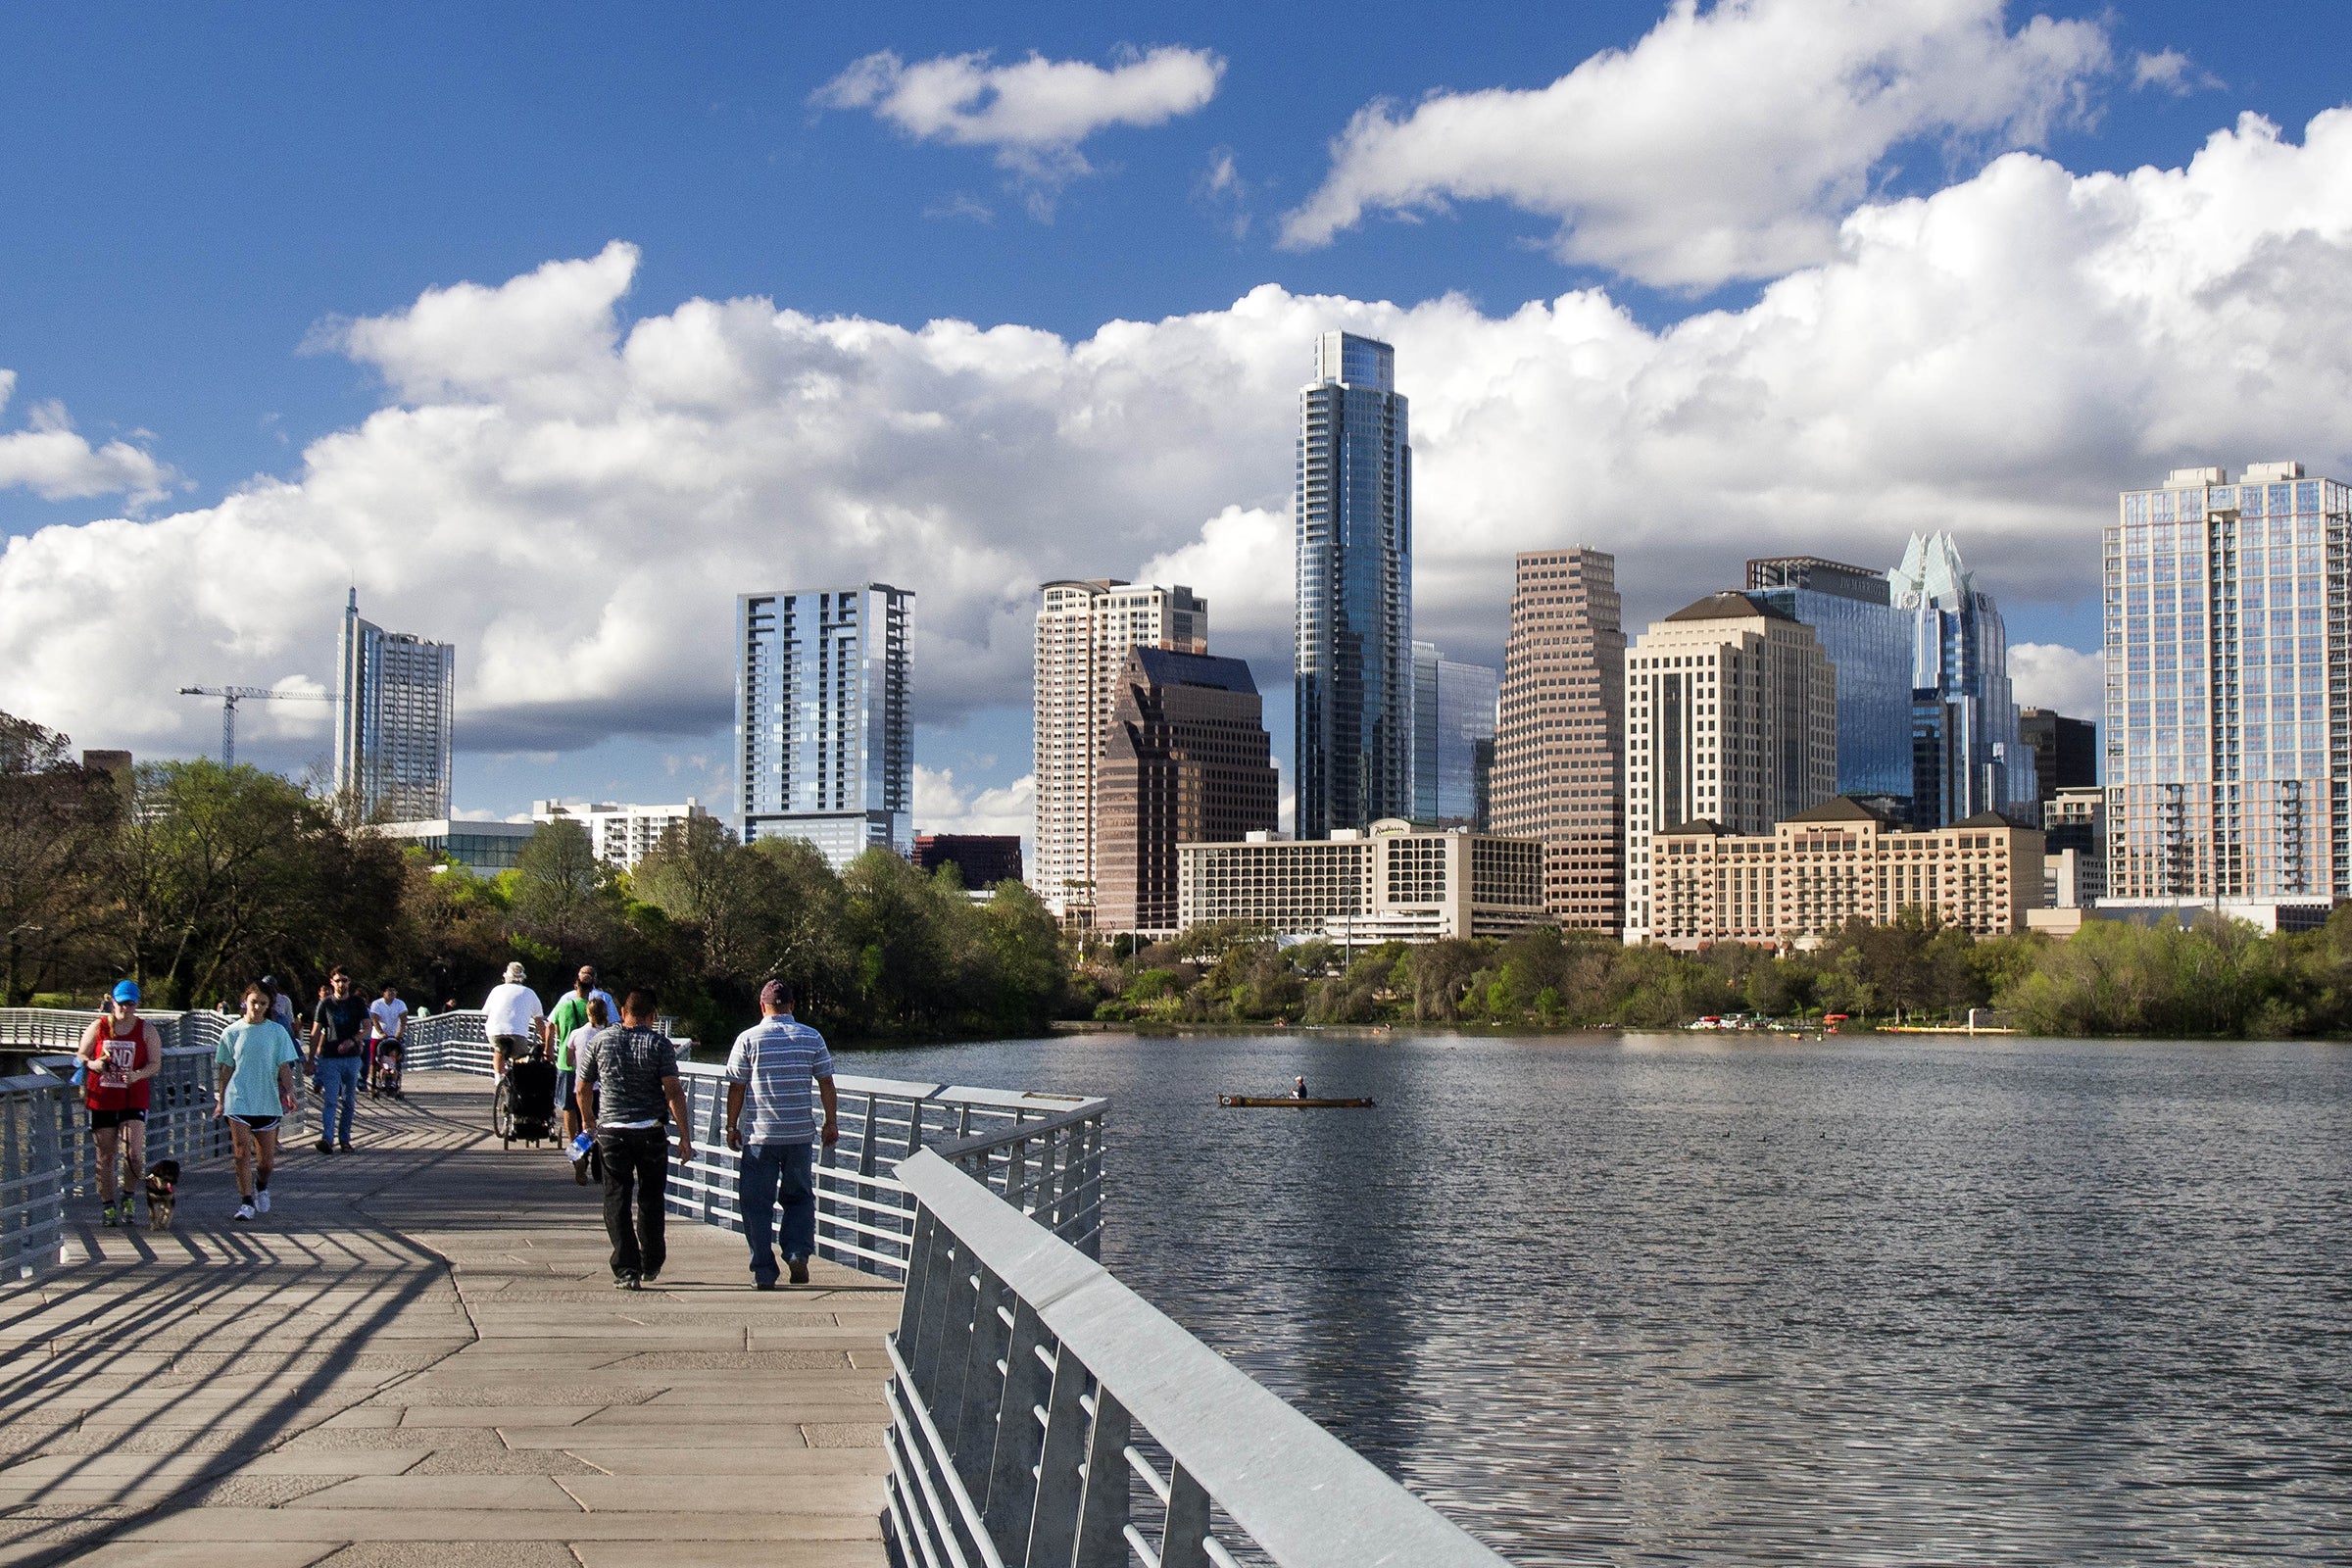
[[[1129,649],[1096,764],[1094,926],[1176,931],[1176,846],[1272,832],[1279,783],[1240,658]]]

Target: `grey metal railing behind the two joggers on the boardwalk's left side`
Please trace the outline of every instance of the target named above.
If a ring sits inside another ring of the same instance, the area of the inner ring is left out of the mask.
[[[66,1244],[66,1201],[96,1190],[99,1152],[73,1086],[71,1048],[94,1013],[0,1009],[0,1044],[56,1046],[31,1072],[0,1079],[0,1284],[56,1267]],[[195,1166],[228,1154],[228,1124],[214,1121],[214,1048],[230,1023],[219,1013],[141,1013],[162,1034],[162,1067],[148,1081],[146,1161]]]

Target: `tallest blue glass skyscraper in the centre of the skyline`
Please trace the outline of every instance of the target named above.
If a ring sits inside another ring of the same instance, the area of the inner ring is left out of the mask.
[[[1414,813],[1414,451],[1397,350],[1315,341],[1298,393],[1298,837]]]

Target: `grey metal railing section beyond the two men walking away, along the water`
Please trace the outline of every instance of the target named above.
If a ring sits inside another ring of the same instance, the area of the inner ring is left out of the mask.
[[[407,1067],[489,1074],[482,1013],[452,1011],[409,1023]],[[727,1147],[727,1072],[680,1063],[694,1159],[670,1161],[666,1208],[680,1218],[743,1229],[736,1208],[741,1159]],[[1103,1229],[1105,1100],[910,1084],[849,1072],[833,1077],[842,1140],[821,1150],[816,1168],[816,1255],[906,1279],[915,1199],[896,1178],[908,1154],[938,1143],[969,1143],[967,1168],[997,1194],[1033,1213],[1056,1237],[1094,1255]],[[485,1112],[487,1112],[485,1098]],[[673,1143],[675,1150],[675,1143]]]

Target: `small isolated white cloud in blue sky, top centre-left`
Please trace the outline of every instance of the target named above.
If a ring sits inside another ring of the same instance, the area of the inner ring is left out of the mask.
[[[906,63],[882,49],[818,87],[816,108],[870,108],[915,141],[995,148],[1035,179],[1087,172],[1080,143],[1115,125],[1164,125],[1216,96],[1225,61],[1209,49],[1122,49],[1110,68],[1030,54],[1009,66],[988,52]]]

